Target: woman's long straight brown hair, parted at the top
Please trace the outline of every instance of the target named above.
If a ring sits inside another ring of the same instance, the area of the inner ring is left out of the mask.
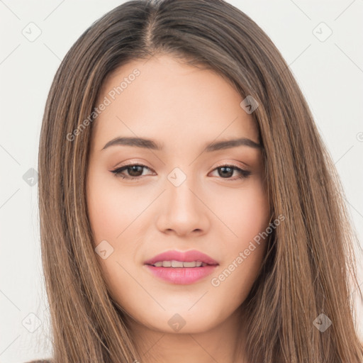
[[[249,362],[362,362],[351,296],[357,238],[340,179],[279,50],[222,0],[128,1],[93,23],[57,70],[38,164],[54,361],[143,362],[92,247],[86,169],[97,120],[89,116],[108,74],[161,53],[215,70],[242,98],[259,103],[252,116],[264,147],[272,217],[285,219],[241,306]],[[319,316],[320,324],[322,316],[332,322],[324,332],[314,325]]]

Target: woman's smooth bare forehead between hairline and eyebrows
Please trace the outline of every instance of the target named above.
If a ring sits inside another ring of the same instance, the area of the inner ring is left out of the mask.
[[[94,140],[98,149],[120,135],[173,145],[232,136],[258,143],[255,122],[241,101],[230,82],[211,69],[169,55],[133,60],[101,86],[96,106],[107,106],[94,121]]]

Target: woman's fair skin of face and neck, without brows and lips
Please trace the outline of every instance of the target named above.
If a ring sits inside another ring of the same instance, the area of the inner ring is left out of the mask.
[[[104,279],[112,298],[132,317],[130,328],[143,363],[247,362],[239,306],[257,278],[264,241],[219,286],[211,279],[269,224],[262,151],[246,145],[214,152],[203,148],[242,137],[258,143],[257,128],[229,82],[170,55],[116,69],[97,104],[135,68],[140,75],[96,118],[91,139],[86,186],[94,247],[102,240],[113,247],[106,259],[97,255]],[[148,138],[164,147],[113,145],[102,150],[120,136]],[[145,168],[122,174],[139,179],[112,173],[135,163]],[[218,173],[218,167],[228,164],[251,174],[238,179],[238,169],[227,176]],[[175,167],[186,175],[180,186],[167,179]],[[162,281],[144,265],[167,250],[194,249],[219,266],[193,284]],[[185,321],[178,332],[168,324],[176,313]]]

